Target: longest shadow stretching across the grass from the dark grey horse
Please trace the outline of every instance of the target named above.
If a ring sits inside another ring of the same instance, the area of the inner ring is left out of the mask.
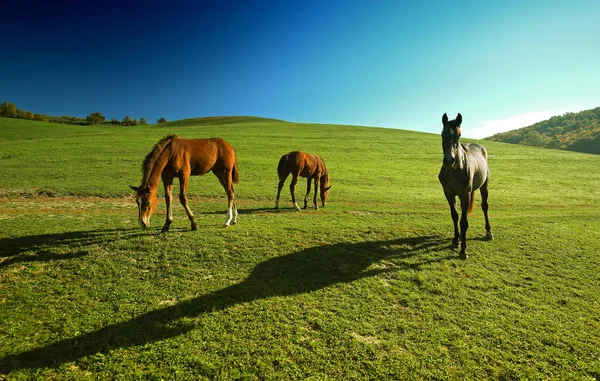
[[[144,345],[195,328],[189,319],[240,303],[291,296],[365,277],[419,269],[452,257],[439,257],[445,240],[438,236],[392,241],[340,243],[309,248],[257,265],[241,283],[211,294],[142,314],[71,339],[0,359],[0,372],[55,367],[96,353]],[[372,266],[376,265],[376,266]],[[185,321],[188,323],[186,324]]]

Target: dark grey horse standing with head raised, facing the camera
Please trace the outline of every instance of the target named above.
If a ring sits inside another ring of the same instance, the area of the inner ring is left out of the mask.
[[[483,215],[485,216],[486,238],[493,239],[488,219],[488,179],[490,171],[487,163],[487,151],[482,145],[476,143],[462,144],[460,139],[460,124],[462,115],[458,114],[455,120],[448,121],[448,116],[442,116],[442,148],[444,150],[444,164],[438,176],[444,194],[450,205],[450,214],[454,222],[454,239],[452,247],[458,247],[459,237],[462,239],[460,258],[467,258],[467,229],[469,223],[467,214],[473,212],[475,206],[475,191],[481,192]],[[456,196],[460,200],[462,215],[460,218],[460,234],[458,232],[458,213],[456,212]]]

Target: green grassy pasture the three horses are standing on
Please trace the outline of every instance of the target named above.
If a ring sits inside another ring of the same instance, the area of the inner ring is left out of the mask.
[[[198,231],[177,203],[159,234],[163,200],[138,228],[128,185],[172,133],[236,149],[237,225],[208,174]],[[463,261],[439,134],[0,118],[0,379],[598,379],[600,156],[483,144],[495,239],[476,208]],[[288,180],[273,209],[291,150],[323,157],[326,207],[292,209]]]

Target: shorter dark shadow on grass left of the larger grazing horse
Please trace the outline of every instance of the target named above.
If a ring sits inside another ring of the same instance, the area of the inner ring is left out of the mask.
[[[135,233],[134,233],[135,232]],[[79,248],[141,235],[139,229],[92,230],[28,235],[0,239],[0,269],[14,263],[49,262],[79,258],[88,253]],[[64,253],[56,253],[64,248]]]

